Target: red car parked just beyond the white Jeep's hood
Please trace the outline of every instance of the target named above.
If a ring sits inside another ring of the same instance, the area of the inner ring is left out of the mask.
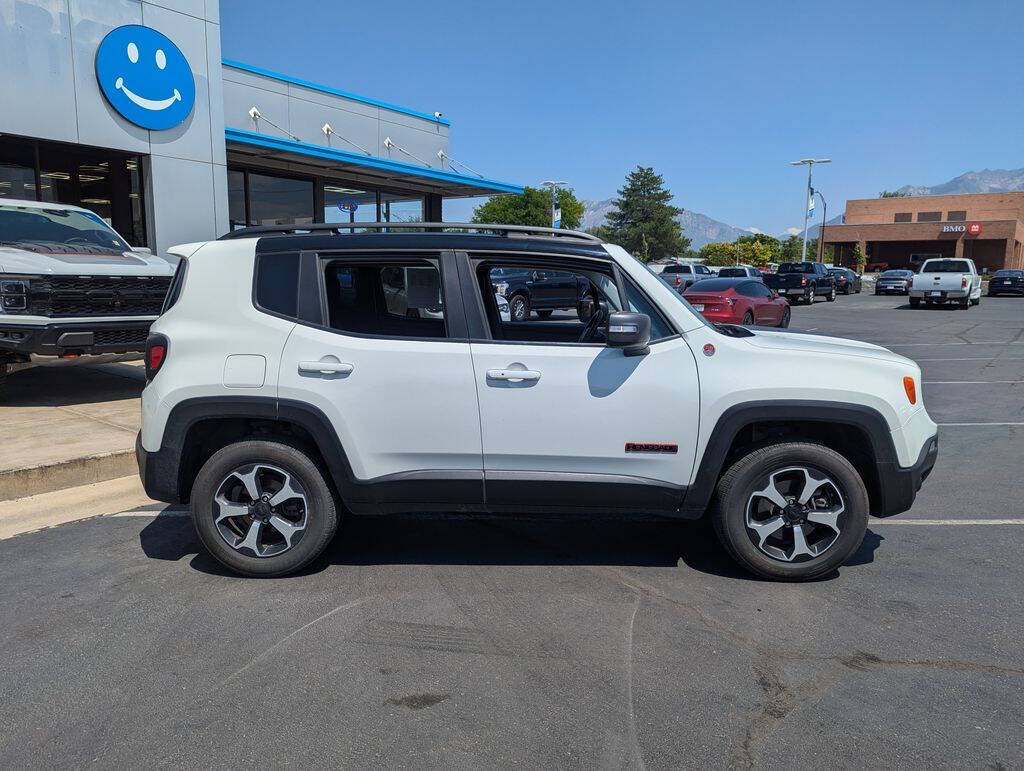
[[[790,303],[757,280],[707,279],[683,297],[713,324],[790,326]]]

